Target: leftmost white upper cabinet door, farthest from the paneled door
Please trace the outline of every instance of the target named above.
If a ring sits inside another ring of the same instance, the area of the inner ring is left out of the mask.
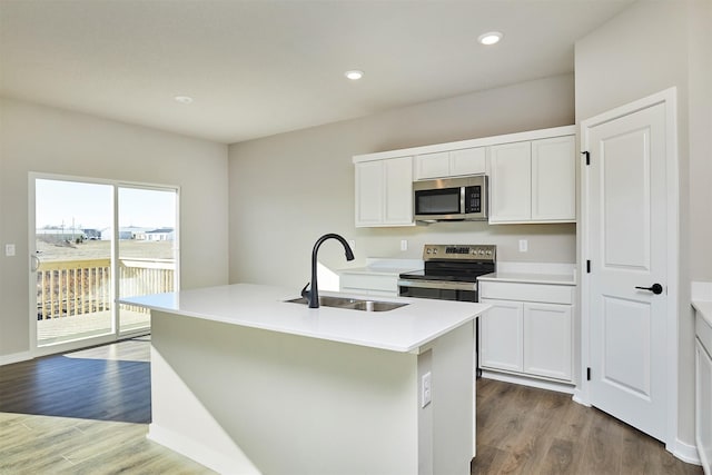
[[[356,164],[356,226],[383,222],[383,161]]]

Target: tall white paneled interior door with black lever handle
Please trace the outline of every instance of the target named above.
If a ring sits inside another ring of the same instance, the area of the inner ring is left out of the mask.
[[[591,404],[661,441],[668,392],[675,390],[666,375],[665,121],[662,102],[582,125],[591,159],[584,171]]]

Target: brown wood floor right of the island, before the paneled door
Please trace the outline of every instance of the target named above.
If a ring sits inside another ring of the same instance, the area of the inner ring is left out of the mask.
[[[567,394],[477,383],[473,474],[702,474],[662,443]]]

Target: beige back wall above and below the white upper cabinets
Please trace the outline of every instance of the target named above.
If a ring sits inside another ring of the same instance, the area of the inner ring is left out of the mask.
[[[496,244],[503,260],[575,261],[572,224],[357,229],[352,164],[359,154],[571,125],[573,82],[557,76],[231,145],[230,281],[305,284],[325,232],[355,239],[356,266],[366,257],[419,258],[426,243]],[[518,253],[520,238],[530,240],[528,253]],[[408,239],[405,253],[400,239]],[[325,244],[319,259],[347,266],[337,243]]]

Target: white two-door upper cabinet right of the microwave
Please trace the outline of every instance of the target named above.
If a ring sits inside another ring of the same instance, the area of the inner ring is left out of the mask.
[[[574,136],[490,148],[490,222],[576,220]]]

